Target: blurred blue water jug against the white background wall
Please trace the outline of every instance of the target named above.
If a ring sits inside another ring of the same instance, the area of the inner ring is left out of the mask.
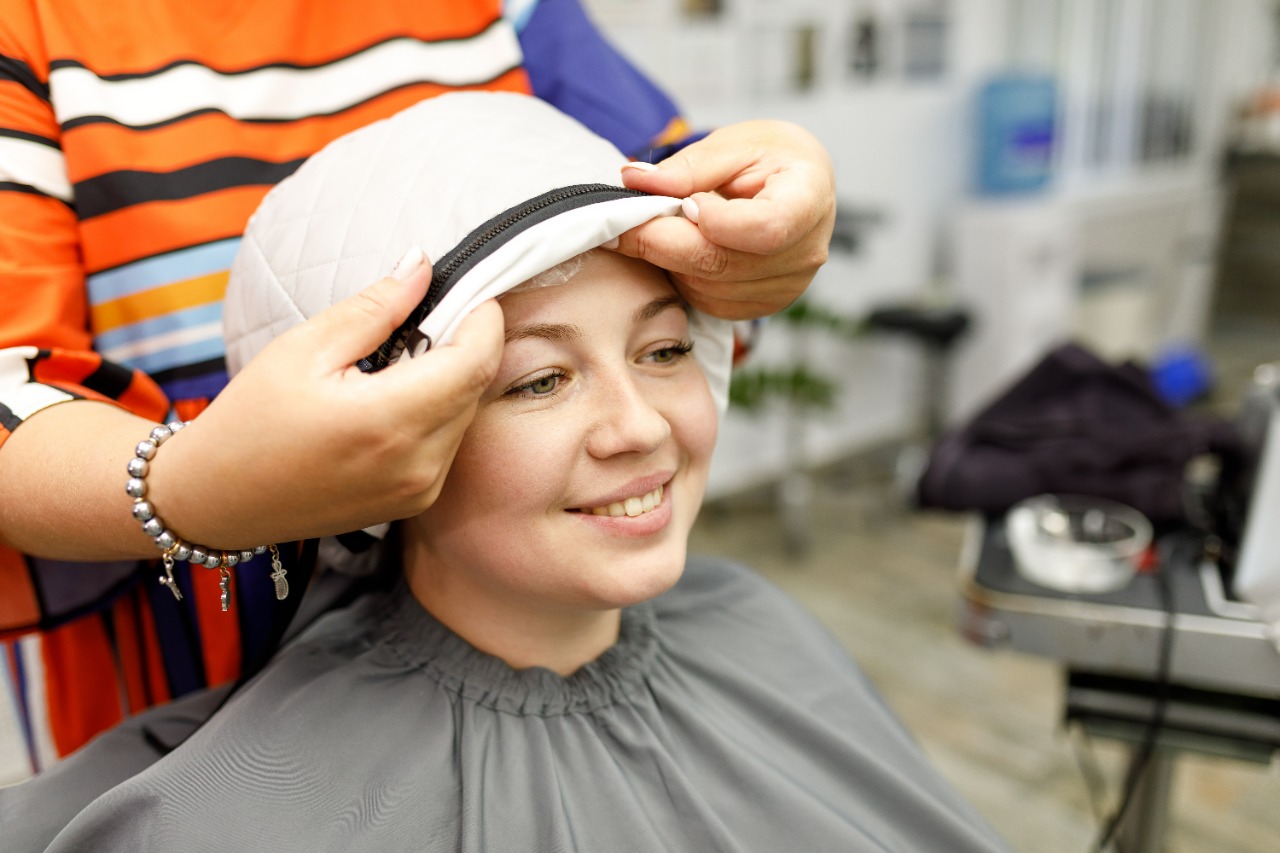
[[[1005,73],[978,92],[978,181],[987,196],[1043,190],[1053,172],[1057,85],[1047,74]]]

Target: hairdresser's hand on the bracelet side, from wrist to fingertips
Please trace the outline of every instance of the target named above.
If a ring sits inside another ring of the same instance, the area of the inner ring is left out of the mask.
[[[448,346],[375,374],[355,362],[430,283],[420,261],[285,332],[156,455],[156,506],[215,548],[343,533],[416,515],[439,494],[502,359],[502,310],[481,305]],[[200,478],[183,473],[201,471]]]

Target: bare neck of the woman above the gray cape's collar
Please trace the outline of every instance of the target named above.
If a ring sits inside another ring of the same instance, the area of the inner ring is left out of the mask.
[[[620,610],[531,606],[460,571],[433,565],[425,548],[404,539],[404,578],[422,607],[454,634],[512,669],[541,666],[572,675],[618,639]]]

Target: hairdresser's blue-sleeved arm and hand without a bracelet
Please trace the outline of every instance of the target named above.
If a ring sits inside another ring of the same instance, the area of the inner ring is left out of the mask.
[[[618,251],[671,270],[690,304],[724,319],[773,314],[800,296],[827,260],[836,220],[835,174],[822,143],[771,120],[698,138],[577,0],[525,8],[513,23],[534,92],[637,158],[623,169],[626,186],[690,197],[689,219],[640,225],[622,236]],[[671,149],[678,151],[646,169]]]

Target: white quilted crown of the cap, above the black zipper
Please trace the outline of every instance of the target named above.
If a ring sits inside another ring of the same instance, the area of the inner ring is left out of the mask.
[[[567,133],[577,137],[573,159],[564,156]],[[502,92],[435,97],[334,141],[250,219],[224,310],[232,370],[283,329],[388,274],[410,247],[439,257],[525,199],[571,183],[621,184],[623,161],[576,120]]]

